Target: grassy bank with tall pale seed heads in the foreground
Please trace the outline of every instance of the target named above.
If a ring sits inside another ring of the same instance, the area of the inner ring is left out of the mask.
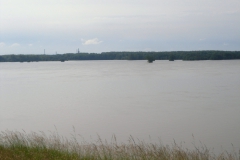
[[[238,152],[238,151],[237,151]],[[95,143],[78,142],[76,137],[65,139],[58,134],[4,131],[0,133],[1,160],[239,160],[238,153],[223,152],[214,155],[206,147],[183,149],[173,144],[144,143],[129,138],[127,144],[110,143],[100,138]]]

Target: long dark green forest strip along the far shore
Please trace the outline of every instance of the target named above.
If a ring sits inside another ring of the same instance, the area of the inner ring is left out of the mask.
[[[102,53],[65,53],[65,54],[19,54],[1,55],[0,62],[38,62],[70,60],[230,60],[240,59],[240,51],[169,51],[169,52],[102,52]]]

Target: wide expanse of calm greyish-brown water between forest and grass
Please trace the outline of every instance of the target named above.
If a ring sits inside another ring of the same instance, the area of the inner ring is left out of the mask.
[[[239,73],[239,60],[0,63],[0,129],[240,148]]]

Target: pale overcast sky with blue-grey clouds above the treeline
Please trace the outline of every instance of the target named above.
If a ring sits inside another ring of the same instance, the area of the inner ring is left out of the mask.
[[[240,0],[0,0],[0,54],[240,50]]]

